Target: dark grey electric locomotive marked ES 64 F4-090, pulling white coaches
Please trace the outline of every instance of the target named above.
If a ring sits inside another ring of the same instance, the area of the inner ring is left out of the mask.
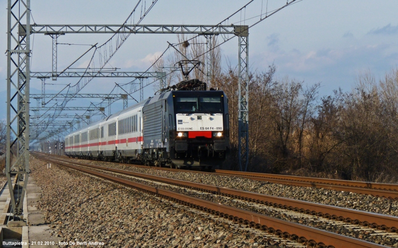
[[[166,91],[143,106],[144,161],[177,167],[222,163],[229,153],[228,99],[224,92],[195,90],[205,89],[198,80],[181,82],[173,89],[179,90]],[[163,132],[155,134],[159,127]]]

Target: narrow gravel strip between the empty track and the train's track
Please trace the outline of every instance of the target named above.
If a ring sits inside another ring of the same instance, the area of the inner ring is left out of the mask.
[[[65,157],[65,159],[68,159]],[[76,160],[76,159],[75,159]],[[298,187],[266,181],[257,181],[238,176],[214,175],[208,173],[196,173],[182,170],[166,171],[152,168],[135,167],[133,165],[121,165],[117,163],[105,163],[100,161],[76,160],[79,162],[109,166],[113,168],[137,171],[152,175],[164,176],[174,179],[199,182],[221,187],[246,190],[261,194],[287,197],[309,202],[333,205],[343,208],[351,208],[378,214],[398,216],[398,201],[384,197],[363,195],[346,191],[335,191],[324,188]]]

